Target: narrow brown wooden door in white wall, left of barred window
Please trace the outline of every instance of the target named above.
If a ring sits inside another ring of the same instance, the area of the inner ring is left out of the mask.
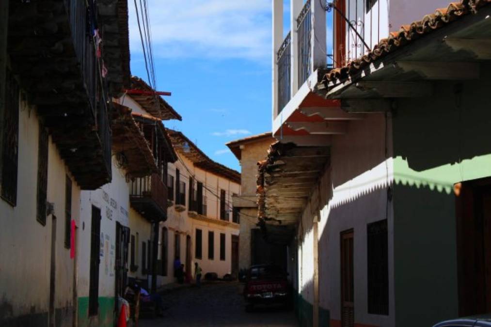
[[[341,326],[354,327],[353,229],[341,233]]]

